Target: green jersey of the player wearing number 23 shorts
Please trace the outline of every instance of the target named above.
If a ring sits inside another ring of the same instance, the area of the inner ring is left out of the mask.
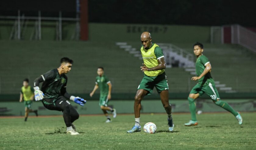
[[[196,61],[197,76],[200,76],[204,72],[205,66],[208,63],[210,63],[210,61],[203,54],[197,58],[197,61]],[[210,72],[208,72],[206,75],[204,75],[201,79],[198,80],[198,84],[200,85],[204,85],[205,83],[208,85],[209,82],[212,83],[212,85],[215,85]]]

